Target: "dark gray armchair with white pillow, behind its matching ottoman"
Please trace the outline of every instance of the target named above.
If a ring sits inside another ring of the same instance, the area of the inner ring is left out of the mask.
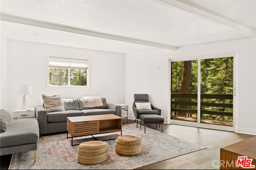
[[[134,94],[134,102],[133,102],[133,105],[132,105],[132,110],[133,110],[134,116],[136,118],[134,123],[137,120],[137,128],[138,128],[138,119],[140,119],[140,115],[142,115],[142,114],[156,114],[156,115],[161,116],[161,109],[156,108],[151,103],[150,104],[151,104],[152,110],[138,110],[136,108],[136,105],[135,105],[135,103],[137,103],[137,102],[138,103],[149,102],[148,94]]]

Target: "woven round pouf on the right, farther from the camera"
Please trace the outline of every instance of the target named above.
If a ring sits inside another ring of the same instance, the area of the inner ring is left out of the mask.
[[[132,156],[141,152],[141,138],[132,135],[123,135],[116,138],[116,153]]]

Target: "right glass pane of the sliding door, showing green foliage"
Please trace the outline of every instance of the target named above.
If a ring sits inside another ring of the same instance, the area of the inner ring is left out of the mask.
[[[233,126],[233,57],[200,62],[200,122]]]

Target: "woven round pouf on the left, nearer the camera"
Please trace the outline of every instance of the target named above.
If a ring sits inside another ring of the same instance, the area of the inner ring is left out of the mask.
[[[94,165],[105,162],[108,159],[108,144],[103,141],[89,141],[78,146],[77,162]]]

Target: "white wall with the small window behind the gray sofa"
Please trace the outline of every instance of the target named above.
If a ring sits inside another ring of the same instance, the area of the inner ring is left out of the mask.
[[[7,106],[6,109],[11,114],[21,105],[22,96],[17,94],[19,84],[32,85],[32,95],[26,96],[29,107],[42,104],[42,94],[52,95],[57,92],[61,93],[62,98],[101,96],[108,103],[125,102],[124,54],[16,40],[8,40],[7,48],[7,72],[1,72],[1,80],[6,80],[1,82],[1,90],[6,90],[6,102],[2,102],[1,106]],[[89,58],[91,87],[46,88],[48,55]],[[3,64],[2,62],[2,66]]]

